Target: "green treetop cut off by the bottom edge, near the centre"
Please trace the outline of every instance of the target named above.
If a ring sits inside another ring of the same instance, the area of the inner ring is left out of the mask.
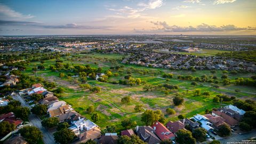
[[[122,135],[117,139],[118,144],[146,144],[146,142],[142,141],[140,137],[137,135],[133,134],[131,137],[128,137],[127,135]]]

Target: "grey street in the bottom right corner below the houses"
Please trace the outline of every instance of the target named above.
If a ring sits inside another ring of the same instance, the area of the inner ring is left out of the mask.
[[[243,134],[233,134],[231,137],[220,139],[219,141],[222,144],[227,144],[228,142],[239,142],[242,140],[247,140],[250,138],[256,137],[256,130],[252,130],[251,132],[243,133]]]

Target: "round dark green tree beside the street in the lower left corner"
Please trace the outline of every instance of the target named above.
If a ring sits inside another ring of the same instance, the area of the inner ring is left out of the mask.
[[[24,126],[19,133],[28,143],[37,143],[43,138],[42,132],[35,126]]]

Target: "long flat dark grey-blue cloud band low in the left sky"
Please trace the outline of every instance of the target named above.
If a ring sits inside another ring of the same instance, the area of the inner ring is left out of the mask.
[[[66,25],[45,25],[41,22],[33,21],[5,21],[0,20],[0,26],[33,26],[47,29],[109,29],[111,27],[96,27],[96,26],[85,26],[77,25],[76,23],[68,23]]]

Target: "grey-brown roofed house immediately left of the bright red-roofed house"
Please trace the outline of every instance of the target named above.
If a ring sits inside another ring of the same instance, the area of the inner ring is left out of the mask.
[[[137,126],[136,133],[143,141],[148,144],[160,143],[161,140],[154,133],[154,129],[151,126]]]

